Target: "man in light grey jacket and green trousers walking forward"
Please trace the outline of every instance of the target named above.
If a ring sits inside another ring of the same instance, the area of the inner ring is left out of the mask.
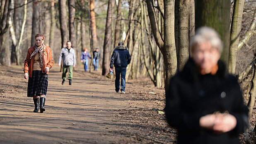
[[[63,59],[63,73],[62,73],[62,85],[66,80],[66,73],[68,72],[69,85],[72,85],[73,67],[75,67],[75,50],[71,47],[71,42],[67,42],[67,47],[62,48],[58,60],[58,66],[60,67],[61,58]]]

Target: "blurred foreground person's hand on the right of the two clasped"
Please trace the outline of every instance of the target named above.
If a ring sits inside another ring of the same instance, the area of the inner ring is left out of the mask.
[[[237,119],[231,114],[218,114],[220,118],[217,118],[213,131],[217,133],[228,132],[233,130],[237,125]]]

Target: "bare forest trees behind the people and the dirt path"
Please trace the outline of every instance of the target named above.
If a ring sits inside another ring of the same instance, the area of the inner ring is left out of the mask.
[[[0,0],[0,65],[22,65],[34,35],[46,37],[58,63],[68,40],[77,62],[83,48],[99,48],[102,75],[109,72],[118,42],[132,60],[126,77],[150,77],[168,89],[169,79],[189,57],[195,29],[210,26],[224,43],[222,60],[237,76],[249,107],[256,96],[256,0]],[[92,62],[90,63],[90,71]],[[250,117],[254,118],[254,117]],[[256,131],[251,125],[250,132]]]

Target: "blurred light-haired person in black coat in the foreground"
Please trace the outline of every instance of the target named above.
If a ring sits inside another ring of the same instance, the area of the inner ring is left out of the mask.
[[[199,28],[191,58],[170,81],[166,118],[177,128],[179,144],[239,144],[239,134],[248,127],[240,86],[219,60],[221,52],[215,30]]]

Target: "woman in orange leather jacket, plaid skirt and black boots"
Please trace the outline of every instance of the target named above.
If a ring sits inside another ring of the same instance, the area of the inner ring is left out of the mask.
[[[49,69],[53,66],[51,48],[45,46],[44,36],[36,34],[36,44],[29,48],[27,58],[24,62],[24,78],[29,79],[27,97],[33,97],[34,112],[45,111],[44,104],[48,86]],[[40,98],[40,106],[39,106]]]

